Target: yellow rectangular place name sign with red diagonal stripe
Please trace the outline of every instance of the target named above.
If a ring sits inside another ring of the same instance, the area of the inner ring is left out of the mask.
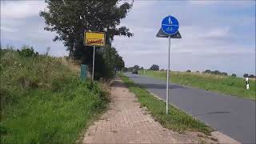
[[[105,46],[105,33],[86,31],[84,43],[86,46]]]

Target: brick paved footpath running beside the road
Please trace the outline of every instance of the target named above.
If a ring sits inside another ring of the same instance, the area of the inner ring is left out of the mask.
[[[94,122],[82,143],[191,143],[198,142],[189,134],[163,128],[140,108],[138,99],[120,79],[111,87],[110,109]]]

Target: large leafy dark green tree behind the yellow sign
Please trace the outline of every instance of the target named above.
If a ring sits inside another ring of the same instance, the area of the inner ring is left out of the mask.
[[[93,49],[91,46],[84,46],[83,44],[85,30],[104,31],[106,29],[106,47],[108,46],[109,48],[111,48],[114,35],[127,37],[133,35],[126,26],[118,26],[120,25],[120,20],[126,18],[126,14],[130,11],[133,2],[120,3],[119,0],[46,0],[47,10],[41,11],[40,16],[46,20],[45,30],[54,31],[58,34],[54,41],[62,41],[64,46],[67,47],[66,50],[70,52],[70,57],[82,60],[82,63],[87,64],[92,70]],[[102,52],[96,50],[95,66],[99,67],[95,67],[95,76],[96,73],[99,75],[105,73],[106,71],[103,69],[112,70],[112,66],[103,66],[109,63],[105,62],[103,58],[105,56]],[[98,62],[97,65],[96,61]],[[121,66],[122,62],[119,64]],[[115,63],[118,66],[119,64]]]

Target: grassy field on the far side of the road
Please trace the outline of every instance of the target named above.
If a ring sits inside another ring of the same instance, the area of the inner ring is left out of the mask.
[[[138,72],[144,74],[142,70]],[[166,71],[146,70],[145,74],[150,77],[166,79]],[[235,78],[217,74],[171,72],[170,82],[185,86],[194,86],[203,90],[211,90],[221,94],[234,95],[240,98],[250,98],[255,100],[256,81],[250,78],[250,90],[245,89],[244,78]]]

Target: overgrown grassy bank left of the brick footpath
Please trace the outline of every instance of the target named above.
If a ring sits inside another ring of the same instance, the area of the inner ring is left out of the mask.
[[[82,82],[62,58],[1,50],[1,143],[74,143],[107,107],[98,82]]]

